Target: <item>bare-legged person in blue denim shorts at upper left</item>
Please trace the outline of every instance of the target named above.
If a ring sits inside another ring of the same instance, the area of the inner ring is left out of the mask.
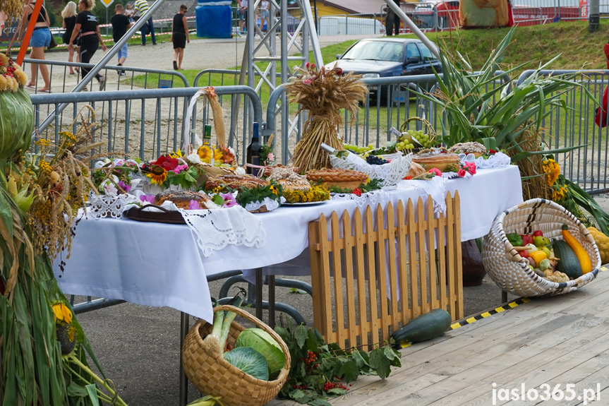
[[[34,11],[35,3],[36,0],[29,0],[27,1],[25,7],[23,7],[23,16],[21,17],[21,24],[19,27],[19,42],[23,40],[25,30],[28,28],[32,11]],[[48,47],[49,44],[51,44],[51,30],[49,29],[50,23],[47,9],[44,8],[44,6],[41,6],[40,13],[38,13],[38,17],[36,18],[36,25],[34,26],[32,37],[30,38],[30,47],[32,47],[32,52],[30,52],[31,59],[44,59],[44,47]],[[30,76],[28,88],[36,88],[38,65],[39,64],[30,64],[30,67],[32,68],[32,76]],[[50,93],[51,78],[49,77],[49,69],[47,68],[47,65],[40,64],[40,73],[42,73],[42,80],[44,80],[44,88],[40,88],[38,91]]]

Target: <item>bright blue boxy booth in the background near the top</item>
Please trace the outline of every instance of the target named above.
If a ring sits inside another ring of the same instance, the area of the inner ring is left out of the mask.
[[[230,0],[198,0],[197,37],[230,38],[232,18]]]

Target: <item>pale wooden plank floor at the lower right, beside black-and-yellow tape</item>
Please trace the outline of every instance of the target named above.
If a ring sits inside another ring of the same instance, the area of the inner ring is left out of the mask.
[[[389,378],[360,376],[332,405],[584,405],[590,389],[600,399],[588,404],[609,405],[609,271],[577,292],[532,299],[401,352],[402,367]],[[501,400],[499,389],[521,390],[523,383],[540,394],[543,383],[560,383],[563,392],[574,384],[576,395]]]

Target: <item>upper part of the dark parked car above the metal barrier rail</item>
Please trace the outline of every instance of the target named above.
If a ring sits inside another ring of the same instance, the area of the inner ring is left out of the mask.
[[[433,69],[438,73],[442,70],[440,61],[421,40],[406,38],[359,40],[344,54],[337,55],[337,61],[327,64],[326,68],[334,66],[364,78],[425,75],[433,73]]]

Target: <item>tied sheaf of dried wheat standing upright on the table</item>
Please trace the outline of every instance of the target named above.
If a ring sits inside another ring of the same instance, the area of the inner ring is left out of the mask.
[[[326,143],[336,150],[344,150],[337,128],[342,124],[341,109],[351,113],[352,119],[359,109],[358,102],[368,93],[361,76],[343,74],[341,68],[318,69],[307,63],[305,68],[295,67],[301,73],[286,86],[290,102],[301,105],[299,110],[307,110],[309,119],[303,129],[303,136],[294,148],[292,164],[303,172],[309,169],[330,167],[330,158],[320,150]]]

